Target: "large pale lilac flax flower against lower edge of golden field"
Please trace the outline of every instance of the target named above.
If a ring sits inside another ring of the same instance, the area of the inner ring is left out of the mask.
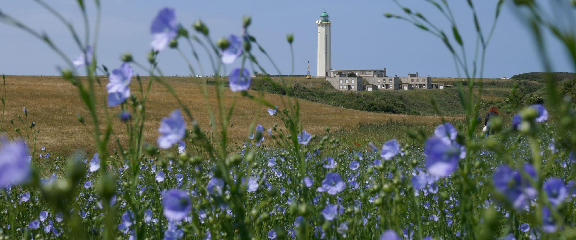
[[[158,132],[161,134],[158,137],[158,147],[162,149],[168,149],[184,138],[186,123],[184,123],[184,118],[179,109],[172,111],[168,118],[162,118]]]

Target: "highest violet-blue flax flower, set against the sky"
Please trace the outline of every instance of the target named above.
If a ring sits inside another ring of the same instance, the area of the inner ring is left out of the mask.
[[[150,33],[154,37],[150,44],[154,51],[164,50],[168,43],[178,34],[175,10],[168,7],[160,10],[154,21],[152,21]]]

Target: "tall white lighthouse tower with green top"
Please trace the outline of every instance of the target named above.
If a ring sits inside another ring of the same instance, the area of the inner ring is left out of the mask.
[[[330,25],[332,20],[328,17],[326,11],[320,15],[318,24],[318,59],[316,61],[316,76],[326,77],[332,70],[332,50],[330,44]]]

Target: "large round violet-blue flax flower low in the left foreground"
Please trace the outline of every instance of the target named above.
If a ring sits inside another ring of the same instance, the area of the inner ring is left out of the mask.
[[[188,213],[190,213],[192,209],[192,204],[187,192],[172,189],[164,194],[162,207],[164,207],[164,216],[166,219],[180,222],[188,216]]]

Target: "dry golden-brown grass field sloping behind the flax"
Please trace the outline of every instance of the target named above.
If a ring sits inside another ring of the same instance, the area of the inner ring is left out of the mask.
[[[202,94],[202,84],[199,80],[190,77],[165,77],[172,85],[183,102],[190,108],[195,120],[199,122],[203,129],[209,128],[209,115],[207,106]],[[147,77],[142,78],[143,83],[147,83]],[[101,121],[104,121],[104,111],[101,99],[106,94],[105,84],[107,78],[101,78],[102,87],[96,85],[98,100],[100,100],[99,110]],[[313,84],[313,83],[310,83]],[[209,102],[215,106],[214,85],[208,85]],[[0,89],[2,91],[2,89]],[[62,154],[70,153],[75,149],[85,149],[88,152],[94,151],[94,141],[91,136],[92,128],[89,121],[88,110],[79,98],[78,90],[68,81],[62,80],[59,76],[6,76],[6,113],[2,128],[7,129],[7,134],[17,136],[13,131],[14,126],[10,125],[9,119],[13,119],[17,126],[25,129],[17,121],[17,114],[24,118],[22,107],[28,109],[27,120],[36,122],[36,128],[40,130],[37,138],[37,147],[45,146],[50,152]],[[132,79],[131,93],[139,95],[138,85],[135,78]],[[252,92],[257,93],[257,92]],[[236,110],[232,116],[234,126],[232,129],[232,139],[237,143],[242,143],[248,136],[248,128],[255,118],[256,123],[262,124],[265,128],[270,128],[274,123],[279,122],[277,118],[268,115],[267,107],[259,104],[240,94],[226,90],[225,102],[230,106],[235,95],[238,95]],[[285,98],[285,96],[282,96]],[[266,94],[265,99],[282,108],[281,96]],[[321,133],[325,127],[337,130],[340,128],[351,129],[358,123],[384,122],[392,120],[414,123],[434,123],[439,122],[438,117],[433,116],[412,116],[395,115],[382,113],[368,113],[364,111],[350,110],[346,108],[332,107],[325,104],[300,100],[301,121],[304,128],[311,133]],[[162,117],[167,116],[170,111],[179,108],[175,98],[173,98],[166,88],[155,82],[152,85],[149,98],[146,103],[147,122],[145,125],[145,141],[156,143],[158,136],[158,126]],[[120,107],[108,108],[110,114],[117,114]],[[86,119],[89,128],[81,125],[77,120],[77,114],[81,114]],[[189,119],[185,119],[190,126]],[[113,129],[120,136],[122,141],[126,140],[126,126],[113,119]],[[24,133],[24,130],[22,131]],[[112,141],[113,142],[113,141]],[[111,148],[114,145],[110,145]]]

